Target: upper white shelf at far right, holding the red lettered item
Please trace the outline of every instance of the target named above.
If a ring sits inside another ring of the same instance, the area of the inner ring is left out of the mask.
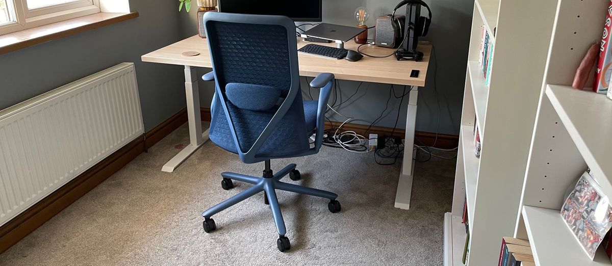
[[[612,196],[612,100],[558,85],[548,85],[546,95],[603,193]]]

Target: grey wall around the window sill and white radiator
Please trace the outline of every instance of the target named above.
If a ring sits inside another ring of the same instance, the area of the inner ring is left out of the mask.
[[[140,17],[0,55],[0,109],[99,72],[134,62],[145,130],[185,106],[182,67],[140,56],[181,39],[176,3],[130,0]]]

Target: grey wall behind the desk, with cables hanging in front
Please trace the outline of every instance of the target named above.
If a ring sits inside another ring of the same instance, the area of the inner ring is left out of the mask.
[[[400,1],[323,0],[323,21],[345,25],[357,24],[353,19],[353,12],[357,7],[365,6],[370,12],[370,19],[367,24],[368,26],[374,26],[376,17],[390,13],[398,2]],[[474,0],[425,0],[425,2],[430,4],[433,12],[433,22],[429,34],[421,40],[428,40],[435,46],[436,50],[435,56],[432,57],[430,62],[427,86],[419,90],[419,111],[416,128],[420,131],[435,132],[438,128],[438,117],[440,117],[439,132],[458,135]],[[403,13],[404,10],[401,9],[398,12]],[[197,33],[195,13],[192,11],[190,14],[183,14],[185,16],[181,17],[183,37],[189,37]],[[373,33],[374,31],[370,30],[371,38],[373,38]],[[436,68],[438,73],[437,78],[434,79]],[[198,71],[203,75],[210,69],[202,68]],[[302,79],[304,98],[310,98],[307,92],[308,86],[305,79]],[[354,81],[340,81],[341,95],[338,100],[353,95],[359,84],[359,82]],[[401,95],[403,86],[395,87],[397,95]],[[435,87],[438,92],[437,95],[434,90]],[[200,82],[202,106],[210,105],[213,89],[211,84]],[[389,97],[389,89],[390,85],[388,84],[364,83],[359,92],[345,105],[340,106],[337,111],[345,116],[355,117],[355,123],[370,124],[385,108]],[[313,96],[315,94],[318,95],[318,92],[313,90]],[[400,108],[398,128],[405,128],[407,103],[408,98],[405,98]],[[384,119],[376,125],[394,127],[399,104],[400,99],[392,97],[389,101],[389,108],[383,114]],[[438,113],[438,107],[441,113]],[[332,120],[343,121],[345,119],[336,115],[332,116]]]

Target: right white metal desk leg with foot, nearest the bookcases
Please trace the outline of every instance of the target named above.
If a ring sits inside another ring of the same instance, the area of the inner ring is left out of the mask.
[[[414,147],[414,130],[417,121],[417,98],[419,98],[419,87],[415,86],[410,91],[410,98],[408,99],[404,160],[401,164],[400,181],[397,183],[397,192],[395,193],[395,207],[405,210],[410,209],[410,196],[412,194],[412,177],[414,175],[412,147]]]

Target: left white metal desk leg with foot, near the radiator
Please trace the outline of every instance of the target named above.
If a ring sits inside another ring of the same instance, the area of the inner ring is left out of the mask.
[[[202,133],[200,115],[200,91],[195,67],[185,65],[185,95],[187,96],[187,119],[189,123],[189,145],[166,163],[162,171],[173,172],[208,140],[208,130]]]

